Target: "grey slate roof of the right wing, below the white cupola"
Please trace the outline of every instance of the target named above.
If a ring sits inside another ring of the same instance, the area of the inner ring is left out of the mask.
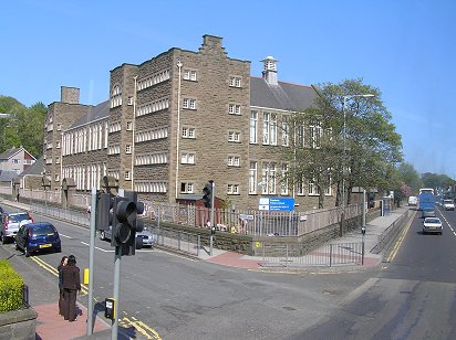
[[[250,105],[283,110],[300,110],[313,105],[317,93],[312,87],[278,83],[270,85],[263,78],[250,77]]]

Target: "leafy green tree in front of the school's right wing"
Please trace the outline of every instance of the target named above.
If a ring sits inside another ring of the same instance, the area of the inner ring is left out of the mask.
[[[291,115],[292,142],[283,151],[290,164],[289,184],[315,185],[320,208],[329,185],[336,188],[336,205],[341,205],[343,189],[346,203],[353,187],[391,189],[395,166],[402,160],[402,142],[380,91],[361,79],[349,79],[320,85],[317,92],[313,107]],[[314,127],[318,134],[312,134]],[[305,131],[310,137],[303,139]]]

